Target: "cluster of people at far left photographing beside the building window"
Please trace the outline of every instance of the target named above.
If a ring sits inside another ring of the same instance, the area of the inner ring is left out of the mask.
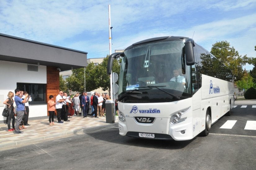
[[[8,98],[3,102],[6,105],[6,108],[9,112],[7,116],[7,126],[8,131],[15,131],[15,134],[21,134],[22,129],[26,129],[25,126],[29,126],[28,118],[29,118],[29,101],[32,101],[28,92],[23,92],[20,89],[15,89],[15,96],[13,92],[8,93]],[[13,100],[14,97],[14,100]],[[16,104],[16,115],[15,115],[15,107],[14,102]],[[15,118],[16,116],[16,118]],[[12,128],[11,128],[11,120],[12,120]]]

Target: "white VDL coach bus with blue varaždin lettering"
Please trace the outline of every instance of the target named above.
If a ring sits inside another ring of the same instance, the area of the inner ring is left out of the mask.
[[[232,72],[194,40],[158,37],[109,56],[119,56],[119,134],[163,140],[207,136],[234,105]]]

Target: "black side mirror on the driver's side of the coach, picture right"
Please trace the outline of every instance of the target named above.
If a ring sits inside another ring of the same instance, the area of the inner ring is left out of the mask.
[[[185,42],[186,65],[195,64],[193,47],[195,47],[194,41],[191,38],[186,40]]]

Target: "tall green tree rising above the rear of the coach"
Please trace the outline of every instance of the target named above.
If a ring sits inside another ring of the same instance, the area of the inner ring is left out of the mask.
[[[243,77],[243,66],[248,62],[248,57],[239,56],[234,47],[230,47],[227,41],[221,41],[213,44],[211,53],[232,70],[235,81]]]

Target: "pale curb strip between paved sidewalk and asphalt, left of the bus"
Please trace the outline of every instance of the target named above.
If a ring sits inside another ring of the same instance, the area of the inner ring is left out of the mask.
[[[16,142],[13,142],[13,141],[6,142],[6,143],[0,144],[0,150],[10,149],[11,146],[14,146],[14,147],[18,146],[19,147],[19,146],[29,145],[33,142],[44,141],[44,140],[48,140],[48,139],[54,139],[56,137],[66,137],[66,136],[70,136],[70,135],[78,135],[78,134],[83,134],[83,133],[94,131],[94,130],[109,128],[109,127],[117,127],[117,126],[118,126],[118,123],[113,123],[113,124],[101,125],[101,126],[97,126],[97,127],[89,127],[89,128],[86,128],[86,129],[77,129],[77,130],[74,130],[74,131],[56,133],[56,134],[51,134],[51,135],[37,137],[37,138],[29,138],[29,139],[16,141]]]

